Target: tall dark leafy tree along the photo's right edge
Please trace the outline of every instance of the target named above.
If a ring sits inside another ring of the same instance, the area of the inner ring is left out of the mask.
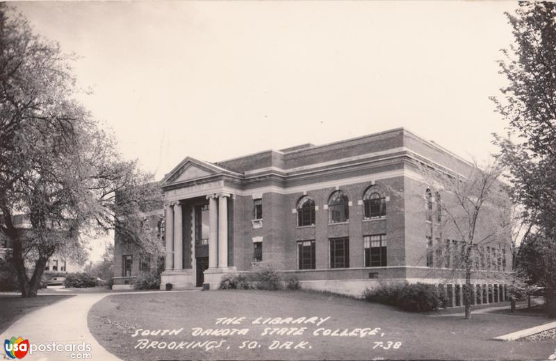
[[[515,42],[503,50],[501,97],[492,97],[507,121],[507,136],[495,135],[508,166],[512,193],[534,226],[528,247],[556,258],[556,3],[521,2],[507,14]],[[547,260],[548,260],[547,259]],[[539,262],[543,262],[539,260]],[[556,317],[556,262],[543,269],[550,317]]]

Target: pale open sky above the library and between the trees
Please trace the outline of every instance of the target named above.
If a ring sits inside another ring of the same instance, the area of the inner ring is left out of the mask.
[[[161,179],[400,126],[466,159],[496,152],[512,1],[15,2],[79,59],[80,100]]]

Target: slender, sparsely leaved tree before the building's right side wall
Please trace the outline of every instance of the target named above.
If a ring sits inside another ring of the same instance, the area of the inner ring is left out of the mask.
[[[420,165],[429,185],[427,265],[436,267],[432,272],[441,278],[465,278],[466,319],[471,318],[474,278],[498,282],[509,278],[503,271],[509,268],[512,202],[500,182],[502,171],[498,161],[484,167],[470,165],[465,174]]]

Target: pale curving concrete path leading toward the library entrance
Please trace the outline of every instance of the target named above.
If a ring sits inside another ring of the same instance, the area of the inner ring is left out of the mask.
[[[160,292],[160,291],[151,291]],[[31,344],[81,344],[85,342],[90,345],[90,357],[88,360],[99,361],[121,361],[115,355],[109,353],[102,347],[95,337],[89,332],[87,325],[87,314],[95,303],[111,294],[133,294],[151,292],[111,292],[103,294],[75,294],[75,296],[58,301],[52,305],[40,308],[21,319],[15,321],[3,334],[1,339],[11,337],[22,337],[28,339]],[[170,291],[170,292],[191,292],[191,291]],[[193,291],[198,292],[198,291]],[[81,350],[76,351],[80,353]],[[71,360],[73,352],[35,352],[27,354],[27,358],[36,361],[58,361]],[[3,350],[1,355],[4,355]],[[83,358],[83,357],[81,357]]]

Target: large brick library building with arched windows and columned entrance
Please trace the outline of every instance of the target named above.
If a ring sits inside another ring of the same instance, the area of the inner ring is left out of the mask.
[[[161,287],[213,289],[222,274],[271,261],[302,287],[337,292],[361,292],[380,279],[449,283],[459,305],[461,274],[427,252],[439,224],[427,215],[434,199],[416,160],[455,174],[471,168],[404,128],[215,163],[188,157],[161,181],[165,209],[152,217],[165,228]],[[504,298],[505,247],[496,246],[499,266],[489,277],[474,280],[477,302],[483,294]],[[115,250],[115,283],[129,283],[139,255],[117,242]]]

